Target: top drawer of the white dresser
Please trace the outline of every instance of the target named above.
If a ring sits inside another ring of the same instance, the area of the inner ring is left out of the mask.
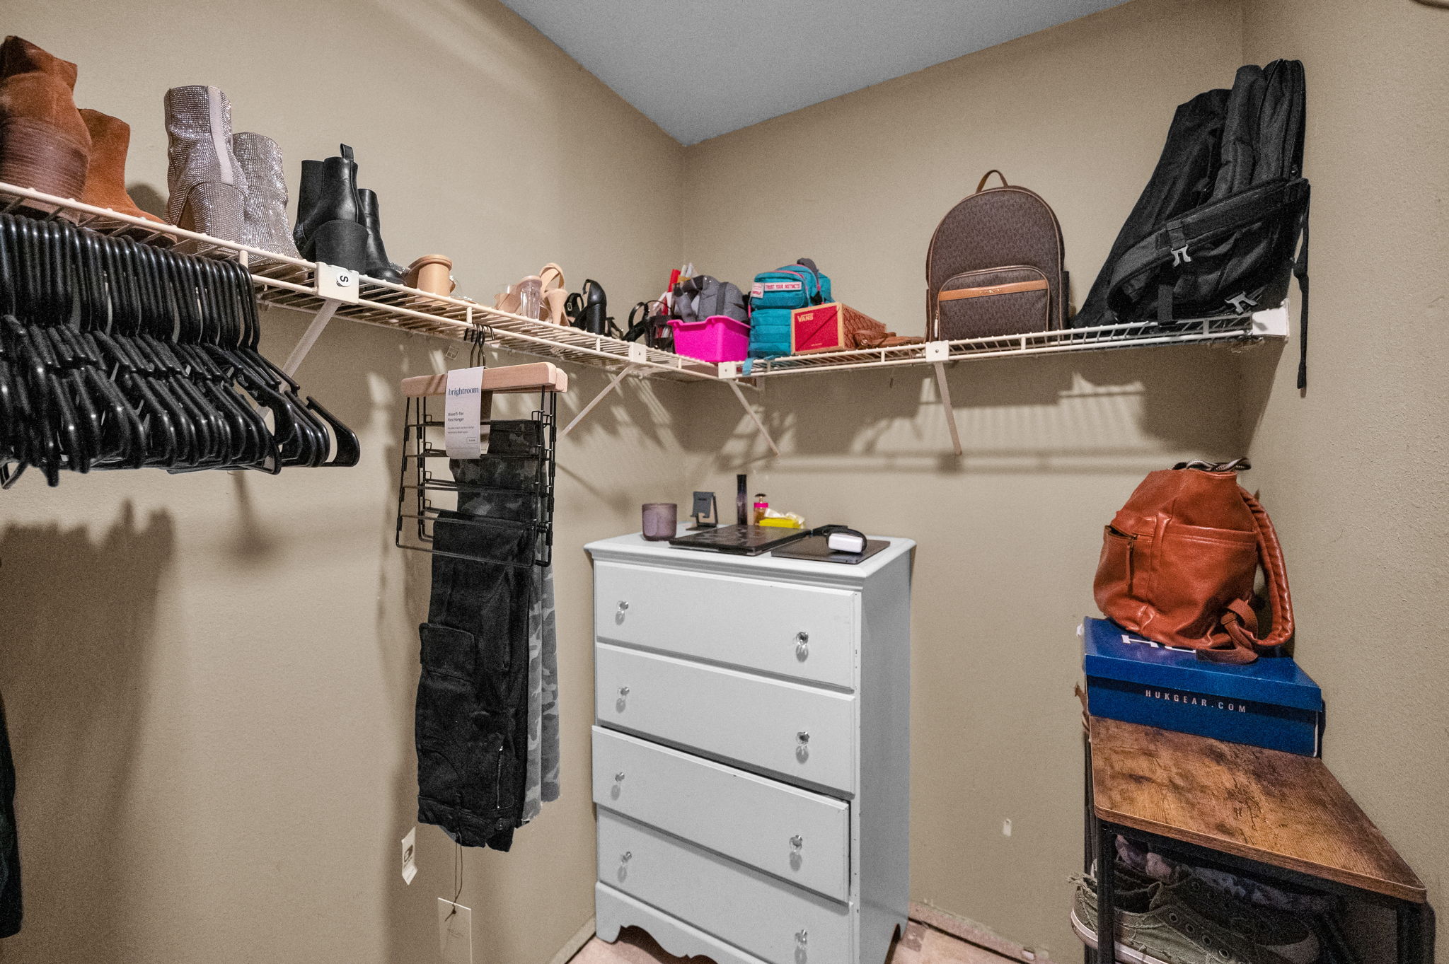
[[[856,593],[598,563],[594,633],[767,673],[853,686]]]

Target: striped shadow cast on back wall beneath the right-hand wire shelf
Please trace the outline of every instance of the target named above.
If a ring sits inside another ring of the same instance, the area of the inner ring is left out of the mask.
[[[1249,356],[1279,350],[1255,346]],[[1239,401],[1242,363],[1207,346],[958,363],[948,384],[961,457],[929,369],[762,379],[751,399],[785,452],[775,470],[1130,473],[1185,450],[1242,454],[1239,426],[1266,404],[1256,394]],[[697,402],[690,450],[738,457],[743,444],[749,460],[764,460],[753,426],[709,398]]]

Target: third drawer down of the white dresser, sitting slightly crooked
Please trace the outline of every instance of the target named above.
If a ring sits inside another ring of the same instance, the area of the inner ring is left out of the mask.
[[[594,727],[594,803],[827,897],[851,896],[851,808]]]

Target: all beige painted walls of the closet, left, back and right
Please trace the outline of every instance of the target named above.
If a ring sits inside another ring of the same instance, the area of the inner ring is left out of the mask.
[[[903,333],[920,330],[930,230],[981,171],[1052,203],[1080,301],[1172,107],[1240,62],[1303,56],[1319,227],[1307,399],[1271,349],[1149,349],[958,366],[962,459],[919,372],[771,382],[758,401],[775,460],[719,386],[630,389],[590,415],[561,453],[565,796],[513,853],[468,851],[461,899],[485,964],[543,964],[591,913],[578,546],[635,528],[649,498],[709,488],[727,504],[745,470],[814,523],[917,538],[913,896],[1074,957],[1072,627],[1091,611],[1098,525],[1145,472],[1249,440],[1290,549],[1300,656],[1329,689],[1329,763],[1437,889],[1449,773],[1419,747],[1449,728],[1430,641],[1449,536],[1430,347],[1446,145],[1427,122],[1449,14],[1136,0],[682,149],[491,0],[3,6],[7,30],[81,64],[83,106],[133,123],[130,181],[162,194],[161,94],[214,83],[239,130],[283,143],[293,178],[352,143],[394,259],[448,252],[474,297],[558,259],[575,284],[604,281],[617,310],[681,249],[738,281],[809,253]],[[1365,190],[1356,165],[1382,182]],[[285,355],[301,324],[270,317],[264,344]],[[396,382],[446,363],[439,346],[326,333],[301,373],[362,431],[351,472],[26,479],[3,495],[0,689],[28,922],[0,960],[433,960],[451,845],[420,829],[422,876],[396,876],[426,563],[393,549],[391,499]],[[574,375],[565,410],[603,386]],[[1364,670],[1356,640],[1394,604],[1387,625],[1416,661]]]

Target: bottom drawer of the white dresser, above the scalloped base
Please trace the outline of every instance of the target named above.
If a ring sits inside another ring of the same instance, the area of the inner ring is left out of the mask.
[[[851,960],[849,905],[598,811],[598,880],[769,964]]]

